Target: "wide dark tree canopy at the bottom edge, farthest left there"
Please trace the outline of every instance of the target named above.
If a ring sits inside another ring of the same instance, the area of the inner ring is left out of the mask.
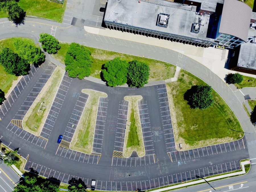
[[[38,177],[31,172],[25,172],[24,178],[14,187],[15,192],[59,192],[59,183],[50,179]]]

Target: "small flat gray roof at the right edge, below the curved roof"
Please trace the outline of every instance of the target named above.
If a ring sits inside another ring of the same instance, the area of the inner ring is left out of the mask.
[[[240,67],[256,69],[256,42],[244,43],[240,47],[238,65]]]

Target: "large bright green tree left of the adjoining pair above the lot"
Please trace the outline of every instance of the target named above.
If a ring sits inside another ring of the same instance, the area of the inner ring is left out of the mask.
[[[71,43],[66,53],[65,65],[69,77],[88,77],[92,66],[90,50],[77,43]]]

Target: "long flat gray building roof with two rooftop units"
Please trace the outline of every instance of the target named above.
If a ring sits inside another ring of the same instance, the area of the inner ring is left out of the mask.
[[[108,0],[104,21],[213,42],[206,37],[209,16],[197,15],[195,11],[195,6],[162,0]],[[159,13],[170,14],[167,28],[156,26]],[[191,32],[194,22],[201,22],[199,33]]]

